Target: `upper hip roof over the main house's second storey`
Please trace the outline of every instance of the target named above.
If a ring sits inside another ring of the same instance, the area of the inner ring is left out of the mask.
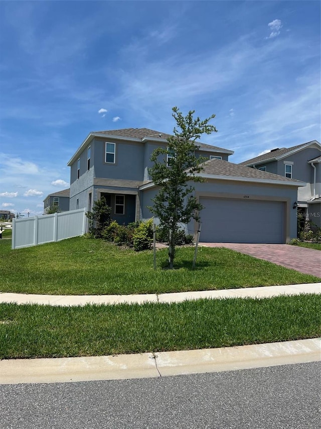
[[[123,128],[119,130],[92,131],[88,134],[67,165],[71,165],[75,161],[75,159],[83,151],[84,147],[89,144],[94,137],[108,137],[111,139],[130,140],[141,143],[144,143],[145,141],[160,141],[162,143],[166,143],[167,139],[171,137],[171,134],[150,130],[149,128]],[[200,150],[227,153],[229,155],[233,155],[234,153],[233,150],[224,149],[211,144],[201,143],[198,141],[196,141],[195,144],[199,147]]]

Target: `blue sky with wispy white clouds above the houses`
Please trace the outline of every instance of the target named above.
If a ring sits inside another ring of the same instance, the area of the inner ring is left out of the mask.
[[[43,213],[90,131],[171,133],[172,107],[216,114],[204,143],[241,162],[320,141],[318,1],[0,0],[0,209]]]

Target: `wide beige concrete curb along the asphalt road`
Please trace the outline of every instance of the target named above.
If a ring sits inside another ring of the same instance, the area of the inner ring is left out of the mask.
[[[157,378],[321,361],[321,338],[139,355],[0,361],[0,384]]]

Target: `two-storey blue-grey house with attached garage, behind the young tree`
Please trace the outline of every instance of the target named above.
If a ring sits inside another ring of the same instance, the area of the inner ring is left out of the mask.
[[[92,209],[102,196],[120,224],[147,219],[157,192],[148,175],[150,155],[167,147],[169,134],[146,129],[92,132],[68,162],[70,210]],[[196,156],[208,159],[196,183],[201,241],[285,243],[296,236],[297,188],[305,184],[228,162],[233,151],[197,142]],[[196,234],[193,220],[185,225]]]

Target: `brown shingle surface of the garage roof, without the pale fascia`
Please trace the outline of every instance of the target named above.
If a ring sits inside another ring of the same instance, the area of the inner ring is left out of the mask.
[[[302,183],[299,180],[288,179],[283,176],[268,173],[267,171],[257,170],[255,168],[245,167],[240,164],[234,164],[233,162],[224,161],[222,159],[211,159],[204,162],[204,170],[201,174],[213,175],[213,176],[224,176],[278,181],[278,182],[297,182]]]

